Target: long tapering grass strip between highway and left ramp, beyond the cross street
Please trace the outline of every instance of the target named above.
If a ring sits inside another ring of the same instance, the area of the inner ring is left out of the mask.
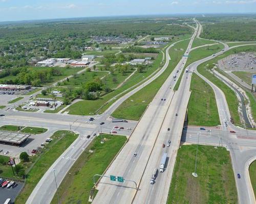
[[[148,84],[140,91],[127,98],[112,114],[115,118],[125,118],[130,120],[139,120],[143,112],[145,111],[148,104],[151,103],[156,93],[163,85],[169,74],[172,73],[180,59],[184,54],[189,43],[188,40],[181,41],[173,46],[169,50],[169,55],[172,60],[169,61],[169,65],[166,70],[152,83]],[[182,51],[178,49],[182,48]],[[176,49],[176,50],[175,50]]]

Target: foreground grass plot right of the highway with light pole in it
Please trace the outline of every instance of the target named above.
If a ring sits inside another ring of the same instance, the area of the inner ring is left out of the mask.
[[[238,203],[236,183],[229,151],[223,147],[182,145],[178,150],[167,202],[173,203]]]

